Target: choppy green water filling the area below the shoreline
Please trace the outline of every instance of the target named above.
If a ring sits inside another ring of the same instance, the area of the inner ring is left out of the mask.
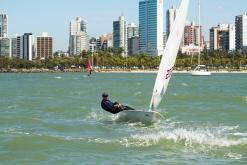
[[[155,76],[0,74],[0,164],[247,164],[246,74],[174,74],[151,126],[101,110],[147,109]]]

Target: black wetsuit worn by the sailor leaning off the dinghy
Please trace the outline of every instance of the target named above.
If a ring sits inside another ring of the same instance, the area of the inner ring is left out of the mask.
[[[123,108],[118,108],[115,107],[116,104],[119,104],[118,102],[111,102],[110,100],[102,100],[101,101],[101,107],[106,110],[107,112],[113,113],[113,114],[117,114],[123,110],[134,110],[134,108],[131,108],[129,106],[123,106]]]

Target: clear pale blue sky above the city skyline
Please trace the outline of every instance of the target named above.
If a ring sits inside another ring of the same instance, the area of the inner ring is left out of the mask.
[[[42,32],[48,32],[54,37],[54,49],[67,51],[71,20],[83,17],[88,21],[90,37],[98,37],[112,32],[113,21],[120,15],[124,15],[128,22],[138,24],[138,2],[139,0],[0,0],[0,12],[8,14],[10,37],[27,32],[40,36]],[[181,0],[164,0],[164,12],[173,4],[178,8],[180,2]],[[247,0],[201,0],[201,24],[206,40],[211,27],[219,23],[233,24],[235,16],[244,12],[247,12]],[[198,22],[198,0],[190,0],[187,20]]]

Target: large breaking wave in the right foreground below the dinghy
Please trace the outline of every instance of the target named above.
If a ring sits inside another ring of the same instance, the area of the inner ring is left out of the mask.
[[[166,123],[161,128],[143,130],[134,133],[129,138],[123,138],[121,144],[125,146],[152,146],[159,143],[175,143],[185,147],[232,147],[247,145],[246,137],[235,136],[239,126],[220,126],[206,128],[184,128],[183,123]],[[240,133],[244,135],[244,133]],[[239,135],[239,134],[236,134]]]

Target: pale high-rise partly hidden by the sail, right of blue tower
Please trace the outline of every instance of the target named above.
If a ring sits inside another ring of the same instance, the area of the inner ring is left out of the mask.
[[[174,5],[166,11],[166,35],[169,37],[172,25],[177,15],[177,9]]]

